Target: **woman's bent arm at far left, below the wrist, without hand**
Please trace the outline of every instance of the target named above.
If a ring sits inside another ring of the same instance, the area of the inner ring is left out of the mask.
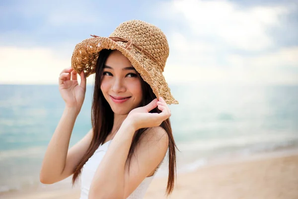
[[[76,116],[74,109],[65,108],[42,162],[41,183],[53,184],[72,175],[75,166],[87,151],[92,140],[92,129],[68,150]]]

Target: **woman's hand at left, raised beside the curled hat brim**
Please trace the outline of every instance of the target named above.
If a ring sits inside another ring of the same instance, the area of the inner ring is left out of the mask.
[[[77,83],[77,73],[73,68],[64,69],[59,76],[59,91],[67,107],[75,108],[79,113],[86,93],[86,77],[80,73],[80,85]]]

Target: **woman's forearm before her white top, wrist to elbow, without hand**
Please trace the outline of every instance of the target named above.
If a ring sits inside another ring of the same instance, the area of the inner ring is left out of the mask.
[[[88,199],[122,199],[124,196],[125,162],[135,132],[124,123],[95,172]]]

